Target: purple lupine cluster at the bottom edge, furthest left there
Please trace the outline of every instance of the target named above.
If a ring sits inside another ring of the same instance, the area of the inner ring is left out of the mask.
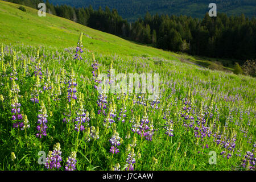
[[[60,143],[56,143],[53,146],[53,151],[48,152],[48,156],[46,158],[46,164],[45,167],[47,169],[57,168],[59,169],[61,167],[60,162],[62,161],[61,158],[61,151],[60,151]]]

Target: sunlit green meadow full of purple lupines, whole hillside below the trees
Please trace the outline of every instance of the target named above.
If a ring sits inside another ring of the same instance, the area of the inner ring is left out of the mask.
[[[255,170],[255,78],[146,46],[122,53],[123,44],[135,44],[99,31],[120,46],[90,44],[90,29],[81,27],[84,35],[42,32],[30,41],[0,26],[1,170]],[[98,76],[111,68],[158,73],[159,96],[99,94]]]

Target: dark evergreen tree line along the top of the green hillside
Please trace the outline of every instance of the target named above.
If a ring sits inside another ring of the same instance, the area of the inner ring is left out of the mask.
[[[39,0],[9,0],[38,9]],[[47,13],[73,20],[85,26],[129,38],[135,42],[151,44],[169,51],[192,55],[238,59],[256,58],[256,19],[245,15],[216,17],[205,14],[203,19],[191,16],[151,15],[147,13],[133,23],[118,15],[117,10],[92,6],[75,8],[52,5],[46,1]]]

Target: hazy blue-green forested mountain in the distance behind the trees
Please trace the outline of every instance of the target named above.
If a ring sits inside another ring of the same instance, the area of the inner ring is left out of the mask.
[[[256,16],[255,0],[49,0],[54,5],[71,5],[93,9],[108,6],[117,9],[122,18],[134,21],[143,17],[148,11],[150,14],[187,15],[193,18],[204,18],[209,11],[209,3],[217,4],[217,11],[228,16],[245,14],[247,17]]]

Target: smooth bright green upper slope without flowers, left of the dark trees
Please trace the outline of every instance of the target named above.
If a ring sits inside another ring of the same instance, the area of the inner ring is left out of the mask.
[[[147,47],[118,36],[93,30],[71,20],[47,14],[39,17],[38,11],[26,7],[26,12],[18,9],[20,5],[0,1],[0,42],[14,44],[22,42],[32,46],[52,46],[56,48],[74,47],[77,37],[84,32],[84,47],[103,54],[130,56],[156,56],[175,59],[170,52]]]

